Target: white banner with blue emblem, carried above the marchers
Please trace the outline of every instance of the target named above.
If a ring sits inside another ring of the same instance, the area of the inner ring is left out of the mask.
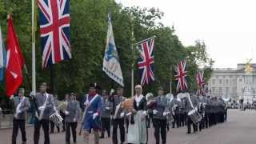
[[[121,86],[123,84],[122,70],[119,62],[117,47],[114,43],[114,34],[110,14],[108,15],[108,30],[106,37],[106,49],[103,58],[102,70]]]

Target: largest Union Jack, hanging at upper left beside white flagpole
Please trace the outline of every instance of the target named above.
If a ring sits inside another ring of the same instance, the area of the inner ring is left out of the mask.
[[[38,0],[42,67],[71,58],[70,0]]]

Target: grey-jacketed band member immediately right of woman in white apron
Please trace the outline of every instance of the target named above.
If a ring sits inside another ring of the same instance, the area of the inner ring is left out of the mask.
[[[151,103],[148,103],[148,106]],[[167,98],[164,95],[162,87],[158,88],[158,97],[154,98],[152,102],[153,109],[153,126],[154,126],[154,138],[156,144],[160,143],[159,134],[161,132],[162,144],[166,144],[166,115],[167,115]]]

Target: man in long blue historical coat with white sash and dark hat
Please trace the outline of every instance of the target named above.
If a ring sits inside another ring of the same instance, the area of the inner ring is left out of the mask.
[[[90,131],[94,130],[94,143],[99,142],[99,132],[101,131],[100,114],[102,112],[102,97],[98,94],[99,86],[90,84],[89,94],[86,94],[86,102],[84,105],[85,118],[83,118],[82,126],[84,130],[84,141],[89,144]]]

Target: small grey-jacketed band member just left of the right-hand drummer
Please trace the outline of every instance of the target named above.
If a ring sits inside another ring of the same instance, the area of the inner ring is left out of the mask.
[[[180,126],[180,120],[179,120],[180,105],[181,105],[181,102],[178,101],[177,95],[174,95],[174,99],[170,102],[170,106],[171,106],[173,117],[174,117],[174,122],[172,122],[173,128],[175,127],[175,124],[177,128]]]

